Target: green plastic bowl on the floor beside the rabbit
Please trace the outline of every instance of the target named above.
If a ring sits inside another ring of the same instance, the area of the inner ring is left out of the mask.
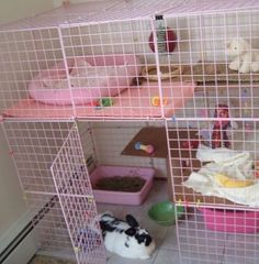
[[[177,212],[176,212],[177,209]],[[161,226],[172,226],[184,213],[184,207],[176,206],[171,201],[161,201],[148,210],[148,216]]]

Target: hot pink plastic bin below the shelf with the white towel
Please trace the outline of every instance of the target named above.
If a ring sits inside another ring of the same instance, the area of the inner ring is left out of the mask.
[[[199,209],[210,230],[229,233],[256,233],[259,231],[259,211]]]

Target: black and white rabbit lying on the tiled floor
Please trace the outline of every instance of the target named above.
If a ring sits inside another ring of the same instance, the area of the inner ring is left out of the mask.
[[[102,213],[100,226],[106,250],[121,256],[145,260],[150,257],[156,248],[150,234],[131,215],[123,221],[111,212]]]

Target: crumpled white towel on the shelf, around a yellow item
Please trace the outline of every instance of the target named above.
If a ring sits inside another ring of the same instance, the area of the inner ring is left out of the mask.
[[[202,162],[211,162],[204,165],[198,173],[192,173],[183,185],[201,193],[204,196],[226,198],[240,205],[259,207],[259,183],[244,188],[226,188],[215,182],[216,174],[225,174],[237,179],[251,179],[252,161],[249,152],[236,152],[225,147],[209,148],[201,145],[196,157]]]

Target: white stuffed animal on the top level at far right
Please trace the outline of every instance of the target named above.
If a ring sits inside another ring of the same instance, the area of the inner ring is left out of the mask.
[[[229,69],[241,74],[259,72],[259,51],[251,48],[249,42],[243,37],[235,37],[227,44],[227,55],[234,56],[228,65]]]

